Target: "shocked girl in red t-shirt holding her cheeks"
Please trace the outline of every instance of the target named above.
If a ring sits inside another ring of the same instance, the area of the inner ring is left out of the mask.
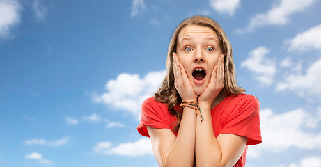
[[[214,20],[194,16],[175,30],[166,77],[143,102],[139,133],[160,166],[245,166],[261,143],[260,104],[237,86],[230,42]]]

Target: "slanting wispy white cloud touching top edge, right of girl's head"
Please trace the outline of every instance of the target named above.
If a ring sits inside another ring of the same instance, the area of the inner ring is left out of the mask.
[[[287,24],[290,16],[302,12],[311,6],[316,0],[281,0],[273,4],[267,13],[260,13],[251,18],[246,29],[237,29],[237,33],[253,31],[259,26],[284,25]]]

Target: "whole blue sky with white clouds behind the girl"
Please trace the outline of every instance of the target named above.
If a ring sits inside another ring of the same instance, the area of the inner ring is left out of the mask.
[[[321,1],[0,0],[0,166],[157,166],[136,132],[169,40],[216,20],[261,104],[247,166],[321,166]]]

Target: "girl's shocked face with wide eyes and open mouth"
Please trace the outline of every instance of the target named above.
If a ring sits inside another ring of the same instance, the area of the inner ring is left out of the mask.
[[[222,54],[217,33],[205,26],[185,26],[178,33],[176,51],[196,95],[201,95]]]

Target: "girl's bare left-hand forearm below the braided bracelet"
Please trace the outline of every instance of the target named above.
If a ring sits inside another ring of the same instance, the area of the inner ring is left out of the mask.
[[[164,166],[193,166],[195,156],[196,111],[185,107],[178,136],[166,154]]]

